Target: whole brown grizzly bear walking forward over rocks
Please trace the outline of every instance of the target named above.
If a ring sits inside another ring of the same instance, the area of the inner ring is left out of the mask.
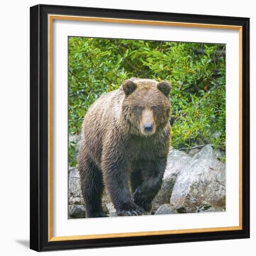
[[[143,215],[162,185],[170,143],[170,83],[131,78],[89,108],[78,169],[86,217],[105,217],[106,187],[117,216]]]

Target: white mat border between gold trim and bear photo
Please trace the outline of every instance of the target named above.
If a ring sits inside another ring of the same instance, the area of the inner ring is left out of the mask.
[[[239,226],[238,30],[54,20],[53,23],[53,236]],[[226,44],[226,212],[100,219],[67,219],[67,36],[197,41]],[[236,138],[236,139],[234,139]],[[65,171],[66,170],[66,171]],[[149,225],[150,223],[150,225]]]

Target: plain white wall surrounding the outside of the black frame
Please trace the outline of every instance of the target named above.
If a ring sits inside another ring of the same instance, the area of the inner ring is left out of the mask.
[[[0,39],[0,244],[2,255],[32,255],[29,250],[29,7],[37,1],[1,3]],[[145,11],[196,13],[250,17],[251,23],[251,130],[256,129],[255,48],[256,13],[253,1],[148,1],[148,0],[52,0],[44,4],[134,9]],[[161,3],[161,4],[159,4]],[[251,133],[251,188],[255,183],[256,135]],[[12,182],[11,182],[12,181]],[[255,217],[256,189],[251,189],[251,218]],[[251,221],[251,238],[243,240],[179,243],[87,251],[51,252],[51,255],[252,255],[256,247],[256,226]]]

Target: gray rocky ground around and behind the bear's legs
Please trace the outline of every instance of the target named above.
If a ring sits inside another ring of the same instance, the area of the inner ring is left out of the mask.
[[[178,214],[225,211],[226,168],[223,152],[206,145],[189,154],[171,148],[162,188],[152,202],[149,214]],[[69,218],[85,218],[79,173],[68,170]],[[115,208],[108,194],[103,195],[103,207],[108,216]]]

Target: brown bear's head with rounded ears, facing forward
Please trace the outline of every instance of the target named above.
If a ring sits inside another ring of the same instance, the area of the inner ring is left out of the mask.
[[[131,78],[123,81],[122,112],[137,135],[153,135],[169,121],[171,85],[167,81]]]

